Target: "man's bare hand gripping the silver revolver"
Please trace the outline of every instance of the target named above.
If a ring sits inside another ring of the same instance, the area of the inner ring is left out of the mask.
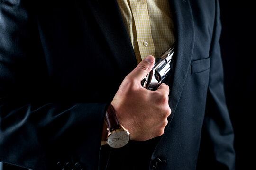
[[[161,84],[156,91],[141,86],[141,80],[152,70],[155,58],[147,56],[123,80],[111,104],[117,118],[132,140],[146,141],[164,133],[167,117],[169,87]]]

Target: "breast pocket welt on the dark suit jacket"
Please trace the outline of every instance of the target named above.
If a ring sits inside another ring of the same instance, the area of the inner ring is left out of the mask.
[[[191,73],[200,73],[210,69],[210,56],[206,59],[191,61]]]

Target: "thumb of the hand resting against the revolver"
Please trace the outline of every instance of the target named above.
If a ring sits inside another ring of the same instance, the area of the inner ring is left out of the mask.
[[[154,64],[155,58],[149,55],[130,72],[129,76],[140,82],[152,70]]]

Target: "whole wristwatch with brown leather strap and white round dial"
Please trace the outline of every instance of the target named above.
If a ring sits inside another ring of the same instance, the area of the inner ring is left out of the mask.
[[[108,136],[106,142],[112,148],[120,148],[128,144],[130,133],[120,125],[114,107],[110,104],[106,110],[104,119],[108,127]]]

